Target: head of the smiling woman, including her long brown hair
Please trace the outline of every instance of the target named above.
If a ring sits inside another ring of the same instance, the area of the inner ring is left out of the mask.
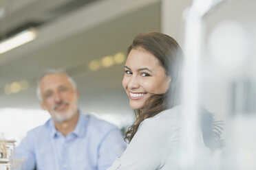
[[[178,104],[183,53],[178,42],[157,32],[139,34],[127,52],[122,86],[137,114],[126,133],[131,141],[143,120]]]

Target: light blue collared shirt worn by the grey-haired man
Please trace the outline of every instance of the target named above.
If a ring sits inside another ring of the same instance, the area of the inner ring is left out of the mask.
[[[75,130],[67,136],[56,130],[52,119],[28,132],[15,158],[25,158],[25,170],[105,170],[125,147],[116,126],[79,113]]]

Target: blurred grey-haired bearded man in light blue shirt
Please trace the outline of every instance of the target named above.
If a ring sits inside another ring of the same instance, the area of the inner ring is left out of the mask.
[[[120,130],[78,110],[78,90],[72,77],[46,71],[37,86],[43,110],[51,119],[34,128],[15,150],[25,170],[105,170],[125,149]]]

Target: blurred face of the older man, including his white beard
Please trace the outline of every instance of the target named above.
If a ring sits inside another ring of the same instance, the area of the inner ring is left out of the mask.
[[[76,114],[78,92],[66,75],[45,75],[40,85],[41,107],[51,114],[54,121],[61,123]]]

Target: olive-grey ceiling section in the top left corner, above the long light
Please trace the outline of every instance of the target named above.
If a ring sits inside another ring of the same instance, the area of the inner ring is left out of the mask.
[[[1,38],[11,36],[26,27],[45,25],[89,3],[92,0],[1,0]]]

